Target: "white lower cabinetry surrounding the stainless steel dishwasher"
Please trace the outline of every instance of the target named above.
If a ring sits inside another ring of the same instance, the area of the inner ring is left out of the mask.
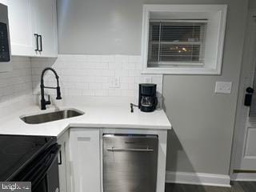
[[[61,192],[103,191],[103,134],[158,135],[158,170],[155,192],[165,191],[167,130],[70,127],[70,129],[67,130],[65,134],[62,134],[62,137],[58,138],[58,144],[62,145],[62,164],[59,165]],[[106,158],[106,156],[104,157]],[[125,158],[128,158],[128,156]],[[117,159],[114,160],[116,161]],[[130,160],[125,159],[125,161]],[[109,169],[111,170],[111,167],[109,167]],[[122,182],[122,179],[120,179],[119,182]],[[127,189],[124,189],[124,191],[125,190],[127,191]]]

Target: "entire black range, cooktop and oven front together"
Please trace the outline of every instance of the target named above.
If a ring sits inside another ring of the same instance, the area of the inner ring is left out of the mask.
[[[55,137],[0,135],[0,181],[31,182],[32,192],[59,189]]]

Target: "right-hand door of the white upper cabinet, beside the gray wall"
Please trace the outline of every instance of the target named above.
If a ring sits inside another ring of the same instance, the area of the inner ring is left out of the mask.
[[[56,0],[34,0],[35,31],[39,37],[38,56],[57,57],[57,10]],[[42,38],[42,39],[41,39]],[[41,43],[42,40],[42,43]]]

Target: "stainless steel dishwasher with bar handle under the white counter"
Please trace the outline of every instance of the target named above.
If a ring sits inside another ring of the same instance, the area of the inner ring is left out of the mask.
[[[157,170],[157,135],[103,135],[103,192],[155,192]]]

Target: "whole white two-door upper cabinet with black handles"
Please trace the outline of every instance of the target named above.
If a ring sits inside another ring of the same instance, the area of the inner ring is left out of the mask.
[[[58,56],[56,0],[0,2],[8,6],[12,55]]]

